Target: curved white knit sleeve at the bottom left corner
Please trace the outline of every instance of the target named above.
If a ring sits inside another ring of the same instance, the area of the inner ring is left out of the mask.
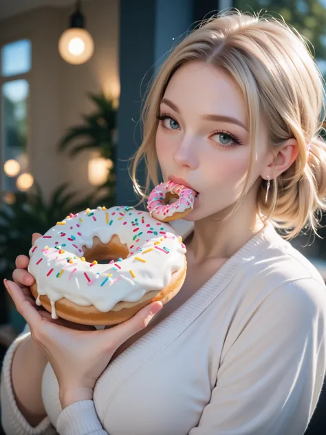
[[[21,341],[28,337],[29,334],[28,326],[26,326],[21,335],[8,348],[3,359],[0,390],[1,424],[6,435],[54,435],[56,430],[48,417],[45,417],[36,427],[32,427],[17,407],[14,398],[11,380],[12,359]]]

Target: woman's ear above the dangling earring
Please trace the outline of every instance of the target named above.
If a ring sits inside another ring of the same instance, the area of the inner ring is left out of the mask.
[[[280,176],[281,173],[290,168],[297,156],[298,142],[296,139],[285,140],[283,146],[277,151],[276,156],[274,156],[272,162],[270,162],[261,176],[265,179],[267,179],[268,175],[271,178]]]

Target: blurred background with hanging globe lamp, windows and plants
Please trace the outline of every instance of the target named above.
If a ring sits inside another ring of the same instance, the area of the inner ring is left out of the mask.
[[[15,257],[70,212],[135,204],[146,87],[184,32],[228,8],[281,14],[326,74],[326,0],[0,0],[1,358],[23,328],[2,284]],[[326,280],[319,233],[292,244]],[[322,408],[309,434],[326,433]]]

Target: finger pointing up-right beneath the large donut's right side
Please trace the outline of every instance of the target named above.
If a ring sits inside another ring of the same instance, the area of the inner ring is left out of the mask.
[[[127,339],[135,335],[136,332],[146,328],[151,319],[153,319],[155,314],[162,310],[162,308],[161,302],[153,302],[153,304],[146,305],[138,311],[131,319],[115,326],[113,329],[115,331],[116,344],[120,346],[124,341],[127,341]]]

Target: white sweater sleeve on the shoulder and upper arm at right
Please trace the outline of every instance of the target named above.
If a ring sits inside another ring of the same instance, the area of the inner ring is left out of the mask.
[[[299,435],[325,378],[326,288],[287,282],[252,310],[226,350],[189,435]]]

